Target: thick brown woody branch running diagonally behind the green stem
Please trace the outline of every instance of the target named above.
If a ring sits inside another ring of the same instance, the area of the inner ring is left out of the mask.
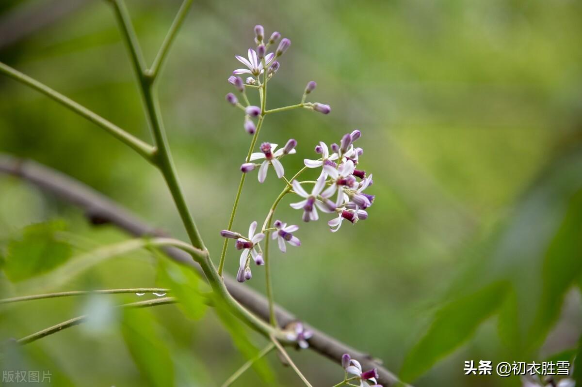
[[[164,236],[163,232],[144,224],[132,213],[101,193],[39,163],[8,155],[0,155],[0,173],[22,178],[36,185],[42,191],[51,193],[65,202],[80,207],[95,224],[111,223],[136,236]],[[176,248],[165,248],[164,250],[171,259],[200,271],[200,267],[182,250]],[[237,301],[262,318],[262,320],[269,321],[268,303],[264,296],[248,286],[239,284],[228,275],[224,276],[224,282],[230,294]],[[276,306],[275,312],[277,320],[282,326],[297,320],[293,314],[280,306]],[[342,354],[349,353],[354,359],[360,360],[364,368],[378,368],[379,382],[385,387],[395,386],[400,383],[392,372],[382,367],[378,360],[374,359],[370,354],[356,350],[308,324],[306,324],[306,327],[313,331],[313,337],[309,341],[311,350],[328,357],[335,363],[341,363]]]

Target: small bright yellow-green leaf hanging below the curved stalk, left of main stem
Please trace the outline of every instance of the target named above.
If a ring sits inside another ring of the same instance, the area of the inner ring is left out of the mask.
[[[171,261],[157,252],[159,256],[159,282],[165,288],[172,289],[172,296],[178,298],[178,307],[194,320],[204,316],[206,304],[200,294],[200,278],[191,268]]]

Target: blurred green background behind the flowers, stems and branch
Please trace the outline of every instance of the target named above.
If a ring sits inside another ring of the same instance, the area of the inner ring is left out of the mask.
[[[0,60],[149,141],[111,7],[77,2],[2,1]],[[148,63],[179,5],[127,0]],[[359,128],[360,165],[374,174],[370,191],[377,195],[367,220],[336,234],[324,221],[301,223],[288,206],[296,200],[283,201],[275,218],[300,225],[302,246],[284,256],[272,250],[277,302],[389,370],[403,370],[417,386],[519,385],[517,378],[466,377],[463,361],[541,361],[574,349],[582,326],[582,3],[195,1],[158,89],[182,185],[215,261],[250,141],[240,111],[224,101],[232,91],[226,78],[240,67],[234,55],[253,45],[259,23],[267,35],[277,30],[292,40],[269,83],[268,107],[299,102],[311,80],[318,88],[310,100],[332,107],[328,116],[307,110],[268,116],[260,141],[296,138],[297,155],[284,160],[293,173],[303,158],[314,158],[318,141],[339,142]],[[72,175],[186,239],[157,171],[100,128],[6,77],[0,77],[0,151]],[[275,180],[271,171],[259,185],[251,173],[235,229],[266,216],[281,189]],[[22,227],[55,218],[68,224],[78,250],[127,238],[0,176],[5,254]],[[145,252],[123,256],[50,290],[155,286],[155,262]],[[229,273],[237,264],[231,246]],[[254,268],[247,285],[264,291],[262,273]],[[502,296],[472,296],[499,283],[509,284]],[[32,291],[6,278],[1,284],[6,295]],[[0,338],[87,310],[98,316],[118,300],[136,297],[3,307]],[[218,386],[244,362],[212,310],[200,321],[176,306],[148,314],[157,332],[152,340],[164,346],[152,347],[151,367],[171,356],[176,385]],[[93,322],[5,360],[50,370],[52,385],[146,385],[115,316]],[[421,341],[427,331],[433,336]],[[311,352],[292,356],[314,386],[342,378],[338,366]],[[275,356],[269,364],[275,385],[301,385]],[[264,384],[252,371],[238,383]]]

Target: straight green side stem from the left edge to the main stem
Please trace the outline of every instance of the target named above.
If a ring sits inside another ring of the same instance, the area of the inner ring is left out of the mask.
[[[62,95],[61,93],[49,88],[47,85],[44,85],[29,76],[20,73],[20,71],[13,69],[12,67],[1,63],[0,62],[0,73],[9,76],[15,81],[18,81],[24,85],[27,85],[37,91],[40,91],[42,94],[47,95],[49,98],[54,99],[56,102],[61,103],[61,105],[67,107],[73,112],[79,114],[81,117],[86,118],[87,120],[91,121],[97,126],[101,127],[109,134],[113,135],[113,137],[119,139],[119,141],[123,142],[123,144],[129,146],[140,156],[144,157],[145,160],[148,162],[152,162],[152,158],[154,155],[154,147],[146,144],[144,141],[141,141],[139,138],[134,137],[132,134],[129,134],[122,128],[116,126],[115,124],[109,122],[108,120],[104,119],[97,113],[92,112],[91,110],[87,109],[83,105],[80,105],[77,102],[74,102],[72,99]]]

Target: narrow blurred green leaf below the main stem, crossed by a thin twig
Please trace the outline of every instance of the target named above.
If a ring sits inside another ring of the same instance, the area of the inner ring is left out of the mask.
[[[215,306],[218,318],[221,320],[223,327],[229,332],[233,343],[240,353],[247,359],[253,359],[257,356],[259,350],[251,343],[246,329],[235,316],[233,316],[225,304],[218,297],[212,298],[212,303]],[[275,374],[269,367],[267,361],[261,358],[253,363],[253,370],[257,372],[259,377],[267,384],[275,384]],[[233,370],[234,371],[234,370]],[[226,377],[225,377],[226,378]]]

